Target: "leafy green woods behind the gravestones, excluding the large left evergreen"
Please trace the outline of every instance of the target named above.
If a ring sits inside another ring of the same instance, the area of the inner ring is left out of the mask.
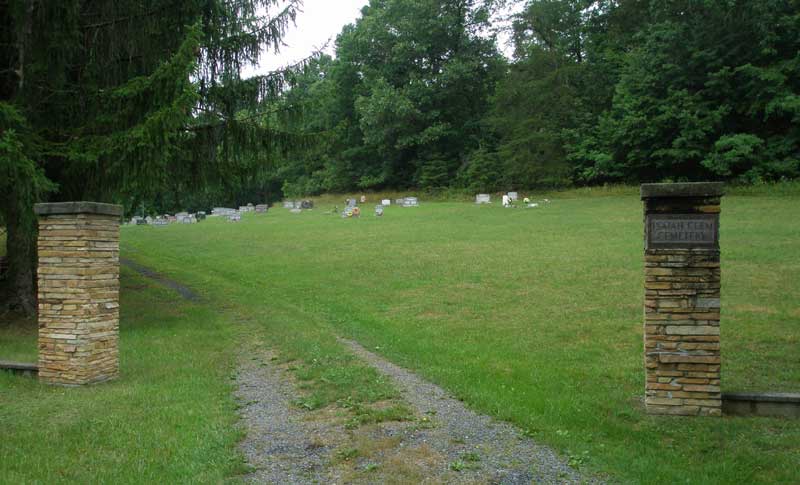
[[[530,0],[498,53],[479,1],[373,0],[285,96],[319,142],[290,195],[800,173],[800,4]]]

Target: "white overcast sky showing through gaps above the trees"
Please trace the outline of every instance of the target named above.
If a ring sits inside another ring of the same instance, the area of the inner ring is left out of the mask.
[[[342,27],[361,16],[361,8],[369,0],[304,0],[303,11],[297,16],[297,25],[290,26],[283,41],[286,44],[279,54],[267,54],[254,69],[246,69],[244,77],[266,74],[284,66],[295,64],[330,43],[326,52],[334,54],[333,44]],[[522,2],[517,2],[521,6]],[[515,9],[516,10],[516,9]],[[504,40],[501,38],[501,43]],[[503,46],[500,46],[503,50]]]

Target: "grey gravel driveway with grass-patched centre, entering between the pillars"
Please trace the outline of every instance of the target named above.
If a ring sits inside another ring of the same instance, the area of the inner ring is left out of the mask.
[[[391,377],[413,421],[348,429],[343,410],[301,411],[291,371],[271,354],[244,362],[237,397],[253,483],[585,483],[564,460],[513,426],[467,409],[440,387],[342,340]]]

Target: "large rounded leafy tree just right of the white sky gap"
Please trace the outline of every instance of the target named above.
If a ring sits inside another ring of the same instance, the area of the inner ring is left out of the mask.
[[[329,136],[310,154],[290,153],[287,187],[451,186],[483,136],[501,75],[502,58],[483,35],[491,3],[373,0],[337,38],[336,59],[288,95],[311,108],[304,129]]]

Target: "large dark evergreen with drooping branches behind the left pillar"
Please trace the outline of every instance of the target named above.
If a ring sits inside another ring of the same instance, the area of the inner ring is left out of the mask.
[[[24,310],[44,194],[136,207],[183,183],[225,184],[287,141],[266,120],[290,73],[241,72],[279,47],[299,4],[0,2],[0,218]]]

